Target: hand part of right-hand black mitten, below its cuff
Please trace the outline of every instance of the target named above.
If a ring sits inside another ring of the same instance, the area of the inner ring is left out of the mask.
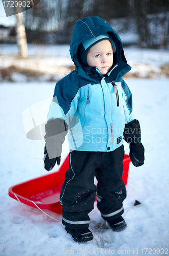
[[[141,142],[130,144],[130,159],[132,164],[136,167],[144,164],[145,149]]]

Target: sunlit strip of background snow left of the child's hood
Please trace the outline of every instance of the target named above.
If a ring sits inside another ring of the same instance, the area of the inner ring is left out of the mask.
[[[28,57],[21,59],[18,57],[17,45],[12,47],[11,45],[0,45],[0,69],[14,66],[29,72],[37,71],[41,73],[41,76],[36,79],[48,81],[50,78],[53,80],[61,79],[71,71],[71,66],[73,66],[68,45],[38,46],[29,44],[28,52]],[[20,74],[18,75],[19,77],[12,74],[12,80],[25,81],[24,77],[20,80]],[[35,80],[35,77],[33,79]]]

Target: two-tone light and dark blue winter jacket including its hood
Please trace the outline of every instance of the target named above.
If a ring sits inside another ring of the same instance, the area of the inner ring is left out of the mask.
[[[89,36],[106,32],[116,44],[117,65],[103,76],[97,68],[80,65],[77,48]],[[123,144],[125,123],[134,119],[132,95],[121,78],[131,69],[121,39],[105,20],[83,18],[75,24],[70,53],[76,69],[57,82],[48,120],[63,118],[67,122],[69,150],[114,151]]]

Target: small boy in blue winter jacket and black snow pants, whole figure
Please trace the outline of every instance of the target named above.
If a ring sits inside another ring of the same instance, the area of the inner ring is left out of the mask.
[[[120,37],[100,17],[77,20],[70,45],[75,71],[55,86],[45,125],[45,169],[60,164],[68,133],[69,166],[62,187],[62,223],[77,242],[93,239],[89,212],[95,197],[101,216],[114,231],[126,228],[122,214],[123,138],[135,166],[144,164],[139,122],[122,79],[131,67]],[[94,185],[96,176],[98,184]]]

